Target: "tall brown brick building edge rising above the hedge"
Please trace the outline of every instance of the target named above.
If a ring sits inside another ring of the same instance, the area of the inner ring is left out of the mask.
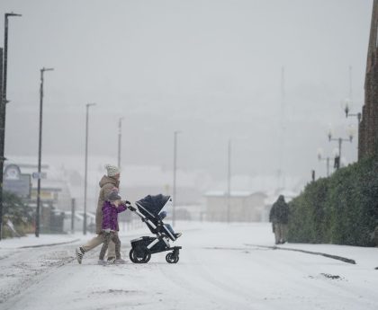
[[[358,137],[358,158],[378,155],[378,0],[374,0],[365,74],[365,105]]]

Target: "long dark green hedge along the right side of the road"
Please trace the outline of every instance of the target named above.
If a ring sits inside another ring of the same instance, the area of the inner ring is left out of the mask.
[[[290,203],[289,241],[374,245],[378,160],[365,159],[307,185]]]

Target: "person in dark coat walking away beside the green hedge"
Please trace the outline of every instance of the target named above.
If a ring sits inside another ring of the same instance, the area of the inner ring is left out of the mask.
[[[275,244],[287,242],[288,221],[289,206],[284,201],[284,195],[280,195],[269,213],[269,222],[272,222],[273,232],[275,233]]]

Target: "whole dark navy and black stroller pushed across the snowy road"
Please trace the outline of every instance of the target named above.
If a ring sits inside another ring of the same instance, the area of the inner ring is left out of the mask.
[[[181,246],[171,247],[169,240],[175,241],[181,234],[175,234],[172,227],[163,223],[166,212],[162,208],[172,201],[170,196],[150,196],[135,202],[138,209],[133,210],[148,226],[152,236],[142,236],[131,240],[130,261],[135,263],[146,263],[150,260],[151,254],[166,252],[166,261],[176,263],[179,260]]]

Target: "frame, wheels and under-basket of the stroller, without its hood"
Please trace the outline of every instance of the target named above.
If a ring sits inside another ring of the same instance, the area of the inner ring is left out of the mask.
[[[142,208],[148,212],[146,208],[143,208],[138,202],[136,202],[138,208]],[[169,229],[166,228],[163,221],[157,218],[157,225],[155,225],[148,217],[145,217],[138,208],[135,208],[134,212],[137,214],[142,222],[146,223],[152,234],[156,236],[141,236],[137,239],[130,241],[131,250],[129,252],[130,261],[134,263],[147,263],[151,259],[151,255],[158,252],[168,252],[166,254],[166,262],[176,263],[179,261],[181,246],[171,247],[169,239],[175,241],[175,235],[173,235]],[[148,214],[154,217],[150,212]]]

